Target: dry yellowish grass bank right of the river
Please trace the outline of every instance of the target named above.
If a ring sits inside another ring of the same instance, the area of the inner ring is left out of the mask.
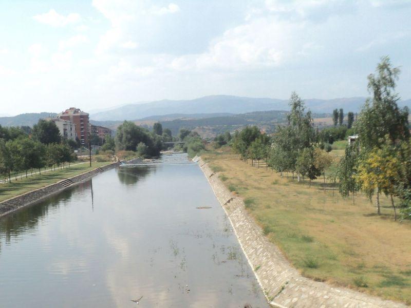
[[[270,241],[303,275],[411,303],[411,224],[394,222],[382,197],[382,215],[362,195],[344,199],[291,177],[246,164],[223,149],[203,159],[244,198]]]

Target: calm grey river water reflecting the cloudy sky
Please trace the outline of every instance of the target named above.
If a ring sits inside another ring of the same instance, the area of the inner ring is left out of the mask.
[[[0,307],[135,307],[141,296],[139,307],[268,307],[186,155],[105,171],[0,218]]]

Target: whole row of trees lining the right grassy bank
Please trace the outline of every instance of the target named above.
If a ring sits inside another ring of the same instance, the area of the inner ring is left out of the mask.
[[[279,126],[271,137],[257,127],[236,131],[230,142],[239,158],[247,161],[265,160],[267,166],[281,172],[291,172],[311,180],[331,170],[329,179],[339,183],[342,196],[357,191],[365,192],[370,200],[376,196],[377,213],[381,214],[379,197],[390,198],[397,219],[399,200],[403,217],[411,218],[411,145],[409,140],[408,109],[399,108],[395,92],[399,69],[393,68],[388,57],[383,57],[376,74],[368,76],[368,89],[372,98],[362,108],[352,132],[358,134],[356,142],[347,145],[345,156],[336,160],[322,149],[322,142],[332,142],[330,130],[315,133],[311,112],[305,111],[304,102],[293,92],[290,99],[288,123]],[[343,111],[338,112],[342,119]],[[352,124],[353,113],[349,115]],[[342,124],[342,121],[340,121]],[[341,127],[343,127],[341,125]],[[341,130],[341,137],[348,127]],[[341,138],[340,137],[340,138]],[[217,137],[216,143],[225,142]],[[397,198],[397,199],[396,199]]]

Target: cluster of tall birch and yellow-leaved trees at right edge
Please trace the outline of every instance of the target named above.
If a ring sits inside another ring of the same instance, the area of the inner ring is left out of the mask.
[[[399,108],[395,91],[399,68],[383,57],[375,74],[368,76],[372,97],[363,106],[355,125],[358,140],[346,148],[340,163],[340,192],[343,196],[362,190],[376,196],[381,214],[380,195],[390,198],[397,219],[395,197],[404,216],[411,218],[411,145],[408,109]]]

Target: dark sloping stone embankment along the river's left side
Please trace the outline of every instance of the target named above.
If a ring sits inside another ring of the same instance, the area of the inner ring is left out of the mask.
[[[80,174],[78,176],[68,178],[66,180],[59,181],[57,183],[54,183],[54,184],[51,184],[51,185],[48,185],[48,186],[45,186],[39,189],[35,189],[32,191],[26,192],[25,194],[22,194],[20,196],[16,196],[16,197],[7,199],[3,202],[0,202],[0,217],[5,216],[9,213],[12,213],[13,211],[20,209],[24,206],[39,202],[43,200],[44,198],[57,194],[57,192],[60,192],[68,187],[72,187],[73,185],[87,181],[91,177],[99,174],[100,172],[114,168],[118,166],[119,164],[120,164],[119,162],[111,163],[111,164],[84,172],[83,174]]]

